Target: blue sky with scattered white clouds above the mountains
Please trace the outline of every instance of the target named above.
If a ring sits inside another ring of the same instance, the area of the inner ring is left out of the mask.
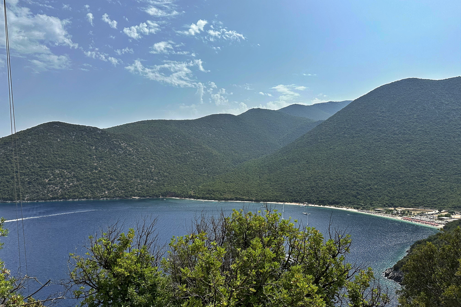
[[[6,2],[18,131],[277,110],[461,75],[459,0]]]

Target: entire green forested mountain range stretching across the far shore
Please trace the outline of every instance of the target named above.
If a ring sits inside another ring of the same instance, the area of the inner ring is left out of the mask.
[[[320,122],[252,109],[108,129],[41,124],[16,135],[22,198],[460,208],[461,77],[386,84]],[[11,160],[5,137],[0,200],[14,199]]]

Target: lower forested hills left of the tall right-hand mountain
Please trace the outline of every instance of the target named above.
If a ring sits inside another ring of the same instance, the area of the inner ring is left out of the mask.
[[[271,110],[99,129],[49,122],[17,134],[23,199],[188,195],[272,153],[318,122]],[[12,200],[11,137],[0,139],[0,199]]]

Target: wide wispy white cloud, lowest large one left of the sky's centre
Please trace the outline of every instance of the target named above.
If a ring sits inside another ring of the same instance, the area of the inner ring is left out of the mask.
[[[161,83],[179,87],[197,87],[198,83],[193,78],[192,67],[205,71],[200,59],[194,59],[189,62],[164,61],[161,65],[151,67],[144,67],[140,60],[135,60],[133,64],[125,68],[133,74]]]

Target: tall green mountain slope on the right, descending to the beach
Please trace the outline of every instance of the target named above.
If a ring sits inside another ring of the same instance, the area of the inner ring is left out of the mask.
[[[460,114],[461,77],[386,84],[196,195],[460,208]]]

